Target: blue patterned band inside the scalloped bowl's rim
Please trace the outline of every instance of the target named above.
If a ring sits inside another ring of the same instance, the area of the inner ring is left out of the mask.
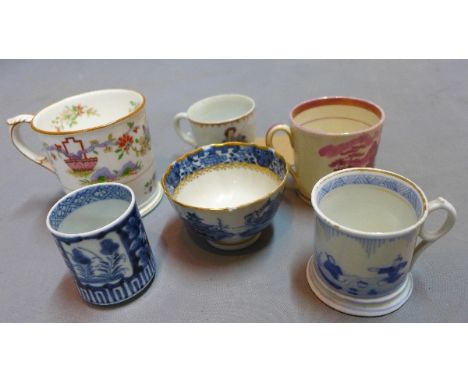
[[[268,168],[279,179],[283,179],[287,168],[275,151],[270,148],[260,148],[254,145],[239,145],[236,143],[223,146],[208,146],[201,148],[185,159],[172,164],[171,170],[165,177],[167,190],[174,194],[179,183],[187,176],[220,163],[251,163]]]

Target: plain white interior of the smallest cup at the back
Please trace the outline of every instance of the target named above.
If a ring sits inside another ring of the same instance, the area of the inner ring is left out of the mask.
[[[252,98],[240,94],[225,94],[205,98],[188,109],[188,117],[196,123],[219,124],[242,118],[253,111]]]

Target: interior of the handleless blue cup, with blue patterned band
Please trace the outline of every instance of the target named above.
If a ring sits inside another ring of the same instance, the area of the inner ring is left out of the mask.
[[[125,216],[134,200],[132,191],[120,184],[84,187],[64,196],[51,208],[47,225],[59,236],[96,232]]]

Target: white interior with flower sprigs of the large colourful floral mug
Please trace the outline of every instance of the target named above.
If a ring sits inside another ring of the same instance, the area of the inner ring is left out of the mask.
[[[79,94],[41,110],[33,120],[44,132],[79,131],[107,125],[132,114],[144,105],[133,90],[108,89]]]

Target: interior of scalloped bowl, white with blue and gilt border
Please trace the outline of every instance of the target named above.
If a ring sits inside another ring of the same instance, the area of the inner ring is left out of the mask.
[[[179,158],[163,177],[169,198],[200,209],[234,209],[267,198],[286,181],[273,149],[249,144],[202,147]]]

